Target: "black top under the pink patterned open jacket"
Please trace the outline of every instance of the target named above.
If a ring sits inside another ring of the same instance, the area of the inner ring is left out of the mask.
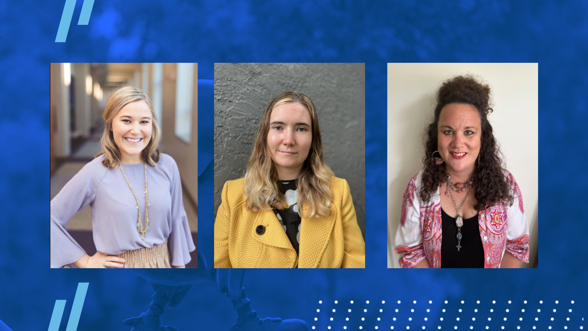
[[[441,208],[441,240],[442,268],[483,268],[484,246],[480,238],[478,216],[463,220],[462,241],[457,251],[457,226],[455,219]]]

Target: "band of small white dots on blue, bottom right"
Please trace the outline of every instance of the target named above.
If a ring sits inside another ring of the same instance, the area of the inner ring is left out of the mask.
[[[485,327],[486,329],[504,330],[514,329],[516,326],[517,330],[529,330],[530,328],[537,329],[537,326],[547,326],[547,329],[555,327],[555,329],[561,330],[563,326],[563,329],[567,330],[568,326],[570,326],[570,329],[572,330],[583,330],[584,323],[582,317],[572,315],[574,310],[572,310],[570,306],[574,304],[573,300],[563,301],[563,307],[559,310],[555,308],[555,305],[559,304],[559,300],[547,300],[545,303],[543,303],[543,300],[500,300],[502,305],[509,304],[510,306],[509,308],[504,307],[505,310],[498,309],[496,312],[494,312],[493,309],[490,309],[492,304],[496,305],[496,300],[453,300],[452,303],[450,303],[449,300],[442,300],[437,301],[437,306],[431,305],[433,300],[421,300],[420,304],[418,300],[396,300],[393,304],[395,304],[397,308],[393,307],[393,309],[388,310],[387,313],[385,313],[385,309],[383,308],[386,306],[386,301],[387,300],[376,300],[375,302],[372,302],[371,306],[375,305],[375,307],[373,307],[375,309],[370,310],[367,309],[367,306],[370,305],[370,300],[360,301],[360,309],[352,310],[350,305],[353,304],[353,300],[350,300],[347,304],[339,303],[338,300],[326,300],[325,303],[323,303],[323,300],[319,300],[320,305],[326,304],[326,310],[323,309],[323,312],[321,312],[321,309],[316,309],[316,313],[318,314],[317,317],[313,317],[315,325],[312,326],[312,329],[346,330],[348,327],[351,329],[363,329],[363,327],[367,327],[368,329],[377,330],[380,327],[387,328],[390,326],[391,330],[398,327],[401,329],[404,329],[405,327],[406,329],[416,327],[417,329],[423,330],[430,327],[433,329],[436,327],[436,329],[439,330],[444,327],[446,329],[467,329],[469,327],[470,330]],[[402,304],[402,302],[405,303]],[[426,304],[427,302],[429,305],[422,307],[423,304]],[[480,312],[478,312],[477,308],[472,309],[472,312],[466,302],[469,302],[469,304],[475,302],[476,307],[480,308]],[[343,309],[335,309],[335,304],[342,304]],[[442,306],[439,306],[439,304],[442,304]],[[464,306],[462,306],[462,304],[464,304]],[[529,309],[523,308],[526,307],[523,306],[526,304],[529,304],[529,307],[527,307]],[[546,304],[547,310],[542,313],[542,310],[537,307],[539,304]],[[501,304],[498,303],[496,307],[500,308],[500,305]],[[462,307],[464,307],[464,309],[462,309]],[[474,314],[476,315],[472,316]],[[548,315],[546,316],[546,314]],[[429,319],[429,317],[431,318]],[[449,317],[449,319],[447,319],[447,317]],[[482,318],[482,320],[480,320],[480,318]],[[476,320],[484,321],[486,319],[487,322],[485,325],[476,324],[480,323],[476,322]],[[320,322],[321,320],[322,322]],[[540,322],[541,320],[543,320],[543,322]],[[327,325],[328,321],[330,321],[329,325]],[[546,325],[548,321],[551,322],[552,325]],[[504,325],[500,325],[501,323]]]

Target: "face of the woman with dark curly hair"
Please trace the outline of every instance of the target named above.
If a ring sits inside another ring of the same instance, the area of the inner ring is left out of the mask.
[[[475,107],[466,104],[447,104],[439,114],[437,147],[445,161],[446,170],[471,176],[480,153],[482,124]]]

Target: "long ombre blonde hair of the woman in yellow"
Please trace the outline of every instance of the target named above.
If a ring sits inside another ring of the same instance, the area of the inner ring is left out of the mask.
[[[296,92],[278,95],[263,113],[243,183],[247,197],[246,207],[252,211],[285,207],[285,198],[278,188],[278,171],[269,153],[268,131],[273,109],[289,102],[299,102],[303,105],[310,114],[312,125],[312,144],[298,177],[298,214],[306,219],[329,216],[330,183],[335,175],[323,162],[322,139],[315,105],[305,94]]]

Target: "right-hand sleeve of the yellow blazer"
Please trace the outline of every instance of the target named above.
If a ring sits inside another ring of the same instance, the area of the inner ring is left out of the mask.
[[[343,180],[343,198],[341,201],[341,220],[343,226],[343,262],[342,268],[365,268],[366,246],[363,241],[362,230],[359,229],[358,219],[353,207],[353,200],[349,184]]]

